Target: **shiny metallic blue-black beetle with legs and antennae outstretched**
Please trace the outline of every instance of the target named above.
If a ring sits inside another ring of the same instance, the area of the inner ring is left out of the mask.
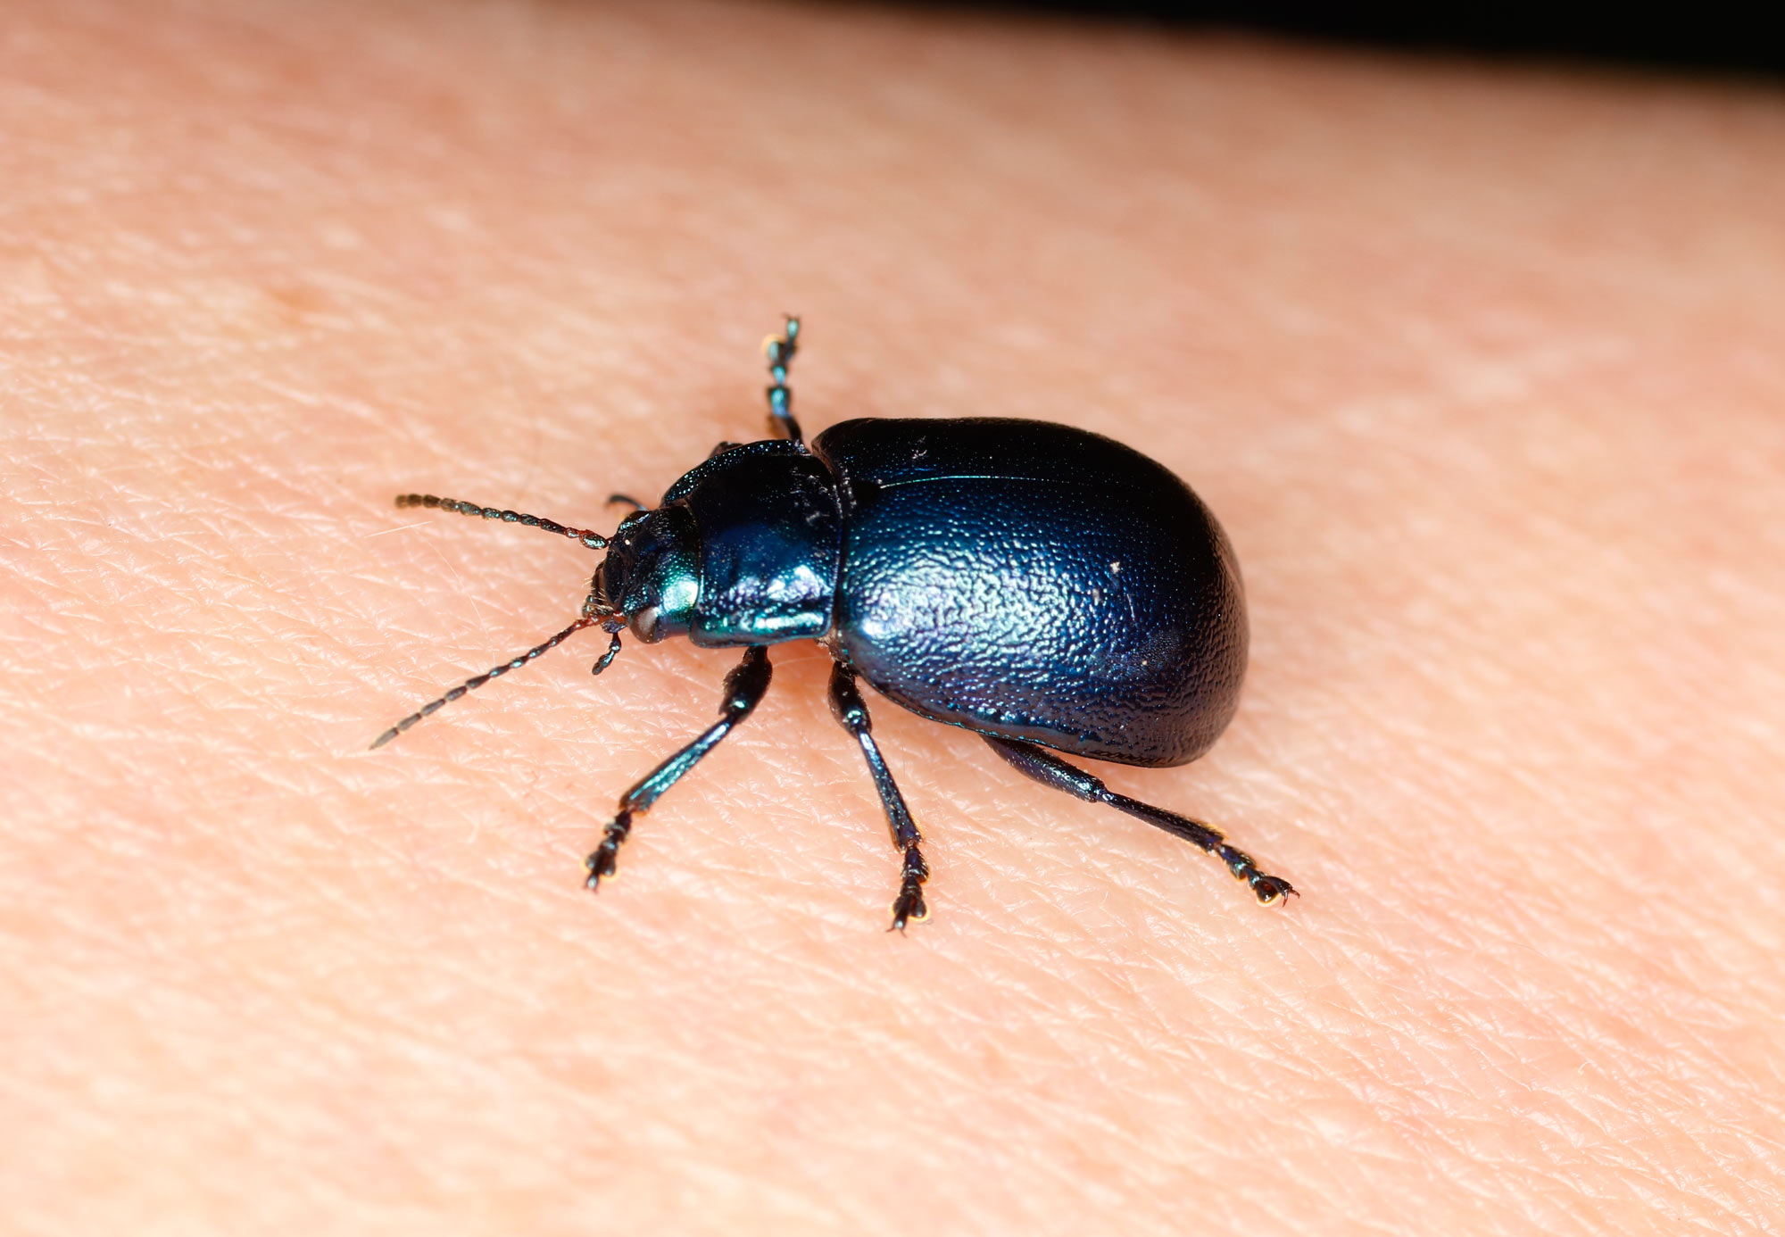
[[[685,635],[743,646],[719,719],[619,796],[585,860],[614,875],[634,821],[712,751],[769,687],[768,648],[816,641],[832,657],[830,709],[868,764],[901,855],[892,928],[928,916],[917,823],[873,737],[857,680],[932,721],[973,730],[1019,773],[1105,803],[1212,853],[1260,903],[1296,889],[1203,821],[1110,791],[1062,755],[1166,768],[1226,728],[1246,673],[1246,594],[1226,534],[1164,466],[1100,434],[1005,418],[855,419],[809,444],[787,368],[800,320],[768,339],[775,437],[719,443],[657,507],[612,535],[434,494],[434,507],[605,550],[580,618],[386,730],[380,748],[569,635]]]

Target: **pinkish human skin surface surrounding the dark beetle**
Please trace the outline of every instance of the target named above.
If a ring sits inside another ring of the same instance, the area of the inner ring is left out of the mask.
[[[20,4],[0,1196],[21,1233],[1774,1233],[1785,98],[866,7]],[[582,635],[794,405],[1128,441],[1253,660],[1094,766]]]

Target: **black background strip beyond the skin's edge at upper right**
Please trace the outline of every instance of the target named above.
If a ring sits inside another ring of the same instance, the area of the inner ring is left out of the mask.
[[[1355,4],[1158,4],[1146,0],[975,0],[923,7],[1066,14],[1103,21],[1198,27],[1299,37],[1305,41],[1467,52],[1476,55],[1589,61],[1633,68],[1699,70],[1746,77],[1785,77],[1785,5],[1744,7],[1624,5],[1589,11],[1555,4],[1439,4],[1421,9]],[[1610,11],[1606,11],[1610,9]],[[1621,11],[1619,11],[1621,9]]]

